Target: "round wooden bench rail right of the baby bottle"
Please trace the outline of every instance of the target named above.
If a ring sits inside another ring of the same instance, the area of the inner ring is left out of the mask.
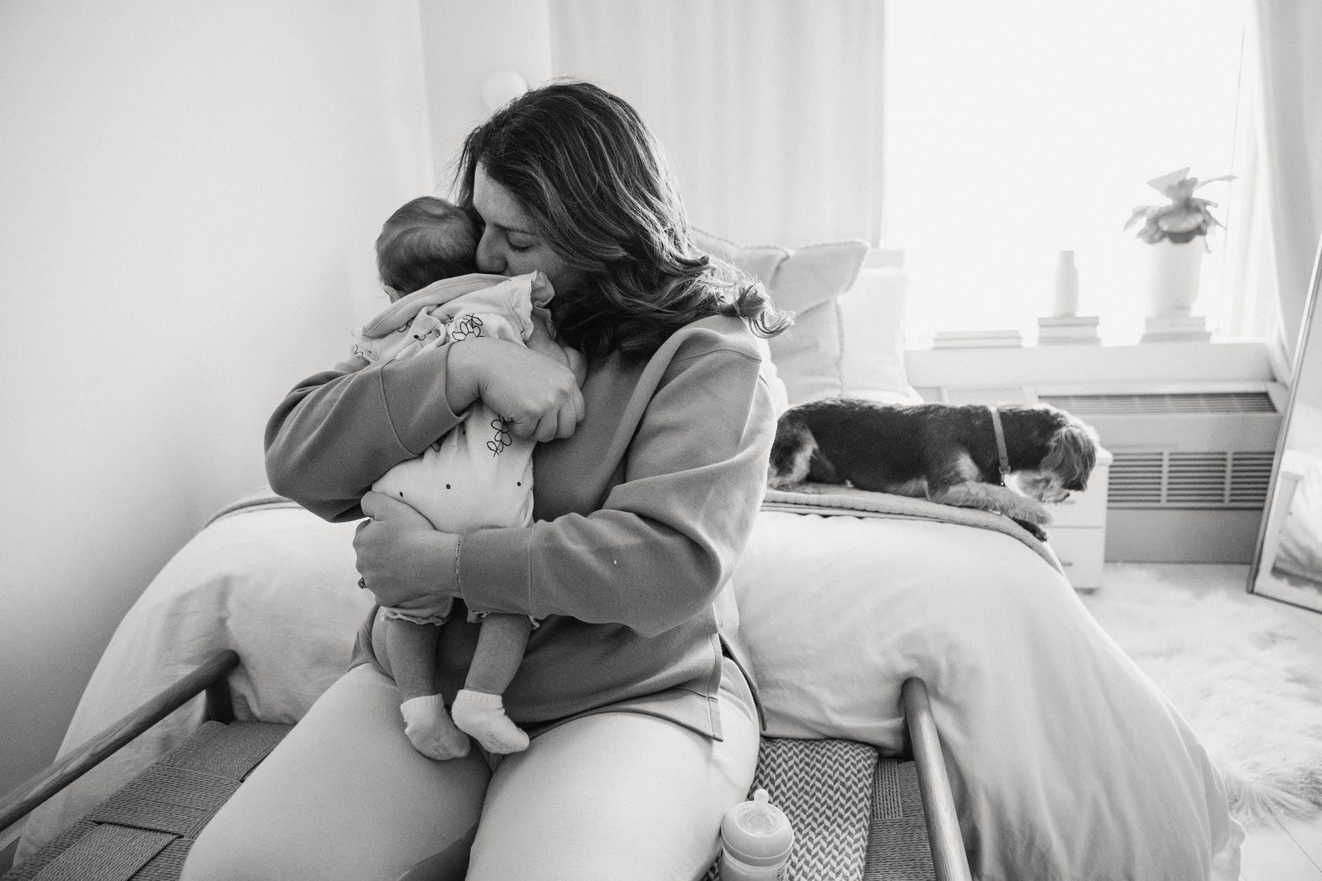
[[[969,857],[964,852],[960,819],[954,814],[954,796],[951,794],[951,779],[945,773],[941,738],[932,716],[927,684],[917,677],[904,680],[900,687],[900,700],[904,704],[904,721],[914,747],[914,763],[917,766],[917,786],[923,798],[936,878],[972,881]]]

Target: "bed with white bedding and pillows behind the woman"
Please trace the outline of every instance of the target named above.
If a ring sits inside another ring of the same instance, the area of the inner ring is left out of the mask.
[[[862,242],[705,246],[800,314],[795,335],[771,345],[785,402],[916,399],[894,261]],[[986,512],[805,489],[768,492],[734,577],[767,737],[903,754],[902,685],[920,677],[977,877],[1237,877],[1220,776],[1084,611],[1048,546]],[[353,529],[266,491],[218,512],[119,624],[62,751],[223,648],[242,657],[229,676],[234,716],[296,722],[345,669],[370,602],[353,587]],[[205,712],[202,700],[184,705],[49,799],[20,860]]]

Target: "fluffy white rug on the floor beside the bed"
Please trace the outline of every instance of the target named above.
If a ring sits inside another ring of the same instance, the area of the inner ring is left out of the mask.
[[[1084,603],[1188,720],[1244,823],[1322,808],[1322,676],[1269,599],[1110,566]]]

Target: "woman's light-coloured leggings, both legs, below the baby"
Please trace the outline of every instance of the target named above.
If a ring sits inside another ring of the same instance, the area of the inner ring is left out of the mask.
[[[362,664],[208,824],[182,877],[698,878],[758,759],[752,696],[728,659],[719,701],[722,742],[654,716],[599,713],[533,738],[492,773],[476,749],[449,762],[415,751],[395,684]]]

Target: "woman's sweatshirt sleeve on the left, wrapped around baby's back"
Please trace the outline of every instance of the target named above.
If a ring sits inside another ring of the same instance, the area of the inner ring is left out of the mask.
[[[266,426],[271,488],[327,520],[362,517],[360,499],[461,419],[446,398],[449,345],[398,361],[340,365],[296,385]]]

